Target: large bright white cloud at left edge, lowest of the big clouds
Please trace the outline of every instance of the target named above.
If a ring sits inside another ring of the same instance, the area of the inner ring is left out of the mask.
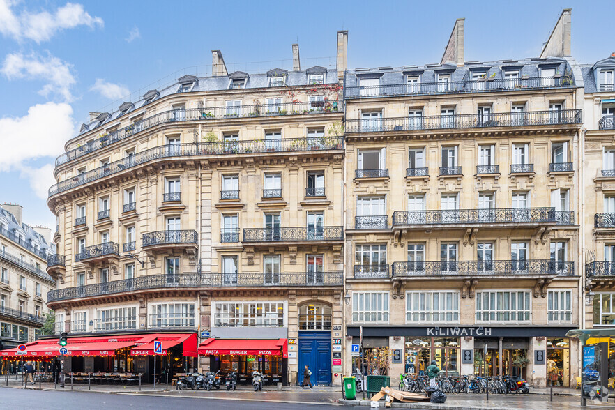
[[[66,102],[33,105],[25,116],[0,118],[0,172],[24,170],[27,160],[59,155],[73,133],[73,108]],[[26,174],[37,178],[34,171]]]

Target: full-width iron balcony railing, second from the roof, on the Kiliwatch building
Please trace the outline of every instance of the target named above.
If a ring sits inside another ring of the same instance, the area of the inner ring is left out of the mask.
[[[502,112],[498,114],[455,114],[346,121],[346,132],[391,132],[497,128],[580,124],[580,109],[562,111]]]

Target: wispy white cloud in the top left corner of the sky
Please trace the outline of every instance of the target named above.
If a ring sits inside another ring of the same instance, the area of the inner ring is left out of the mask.
[[[57,32],[88,26],[91,29],[104,26],[100,17],[92,17],[81,4],[66,3],[55,12],[30,13],[22,10],[18,15],[13,10],[13,0],[0,0],[0,33],[17,41],[34,40],[36,43],[50,40]]]

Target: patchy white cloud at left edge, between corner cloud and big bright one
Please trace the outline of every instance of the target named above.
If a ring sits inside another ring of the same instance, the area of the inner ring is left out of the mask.
[[[15,53],[6,56],[0,68],[0,73],[6,75],[10,80],[41,80],[46,83],[43,89],[40,90],[43,96],[56,93],[64,101],[70,102],[73,100],[70,87],[75,84],[75,77],[70,72],[72,68],[72,65],[52,56],[49,52],[47,52],[46,56],[35,53],[26,56],[21,53]]]

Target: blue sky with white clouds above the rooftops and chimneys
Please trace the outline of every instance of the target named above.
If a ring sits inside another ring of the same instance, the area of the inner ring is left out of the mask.
[[[207,73],[213,49],[229,72],[287,68],[297,42],[303,68],[335,66],[344,29],[350,68],[438,63],[455,19],[465,17],[466,61],[522,59],[540,54],[570,7],[577,61],[615,51],[612,0],[437,4],[0,0],[0,202],[20,203],[26,222],[53,227],[45,202],[52,164],[88,112]]]

